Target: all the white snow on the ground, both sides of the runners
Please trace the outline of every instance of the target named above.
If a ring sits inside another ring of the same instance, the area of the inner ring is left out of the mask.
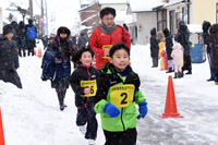
[[[148,114],[137,123],[137,145],[217,145],[217,86],[209,78],[208,62],[193,64],[193,74],[173,80],[178,112],[184,118],[161,119],[168,76],[152,67],[149,45],[132,46],[131,62],[140,74],[141,89],[148,102]],[[7,145],[86,145],[76,128],[74,94],[68,89],[64,111],[50,82],[40,80],[41,59],[21,58],[19,74],[23,89],[0,81],[0,106]],[[97,145],[105,137],[99,128]]]

